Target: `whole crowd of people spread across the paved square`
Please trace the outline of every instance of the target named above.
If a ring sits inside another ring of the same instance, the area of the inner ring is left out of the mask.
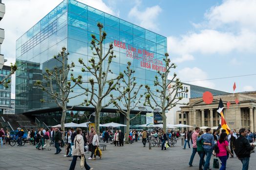
[[[24,135],[24,131],[18,128],[18,146],[22,146],[21,137]],[[124,141],[137,142],[142,140],[143,147],[146,146],[146,142],[149,142],[149,136],[151,138],[157,138],[161,140],[161,150],[166,150],[165,143],[170,138],[178,138],[181,136],[179,131],[168,130],[165,133],[163,130],[153,130],[151,132],[143,130],[131,130],[128,134],[124,134],[121,130],[116,130],[114,133],[107,129],[103,133],[97,135],[96,131],[92,127],[90,132],[82,131],[77,128],[76,131],[73,128],[67,131],[60,130],[59,128],[52,129],[27,129],[27,140],[30,141],[31,145],[34,145],[37,150],[51,150],[50,144],[53,144],[56,148],[55,154],[62,152],[61,148],[65,148],[65,157],[73,157],[70,165],[70,170],[74,170],[76,166],[77,157],[83,158],[85,152],[90,154],[87,159],[95,160],[96,156],[102,157],[101,154],[95,151],[98,150],[100,138],[106,143],[111,142],[114,146],[124,146]],[[250,154],[254,150],[253,142],[256,141],[256,133],[251,133],[249,129],[240,129],[238,133],[235,130],[230,131],[229,135],[225,130],[220,133],[216,132],[211,128],[207,128],[202,131],[199,127],[196,127],[194,131],[184,131],[184,147],[188,145],[191,149],[192,155],[189,161],[189,166],[192,166],[193,159],[196,153],[198,153],[199,170],[210,170],[210,160],[212,156],[219,158],[221,162],[220,170],[225,170],[228,158],[233,158],[234,155],[241,161],[243,170],[248,170]],[[8,144],[10,139],[10,132],[0,129],[0,142],[1,147],[4,143]],[[92,170],[85,159],[85,169]]]

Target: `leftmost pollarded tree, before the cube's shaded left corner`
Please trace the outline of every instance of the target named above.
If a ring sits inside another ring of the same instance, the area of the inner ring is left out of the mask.
[[[66,48],[63,47],[58,55],[53,56],[53,60],[57,61],[57,65],[51,70],[46,68],[45,74],[43,74],[43,81],[37,80],[35,83],[35,86],[42,89],[43,92],[51,98],[51,100],[41,99],[41,102],[55,102],[62,109],[61,128],[63,130],[66,112],[72,110],[75,106],[82,106],[86,102],[68,106],[68,102],[71,99],[86,95],[86,93],[77,95],[72,94],[75,87],[82,85],[85,82],[82,81],[81,75],[78,75],[78,77],[75,78],[73,73],[70,73],[73,71],[73,68],[75,68],[75,64],[74,62],[71,62],[70,65],[67,64],[68,55],[69,53],[66,51]],[[70,75],[70,77],[68,75]]]

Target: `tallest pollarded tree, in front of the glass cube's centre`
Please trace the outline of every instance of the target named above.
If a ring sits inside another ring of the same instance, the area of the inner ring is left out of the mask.
[[[96,37],[94,34],[91,35],[92,40],[90,47],[93,57],[88,59],[89,65],[85,64],[82,58],[79,59],[79,62],[83,65],[82,72],[88,72],[91,74],[91,77],[88,78],[90,86],[85,88],[80,85],[80,87],[83,88],[89,96],[86,102],[86,106],[91,104],[95,109],[95,129],[97,132],[99,132],[100,112],[103,108],[106,108],[115,100],[110,99],[104,103],[104,99],[110,94],[112,90],[116,89],[116,85],[118,85],[119,80],[122,79],[124,75],[119,73],[114,78],[108,77],[109,75],[112,77],[114,75],[110,70],[110,65],[112,59],[115,58],[116,55],[114,55],[112,43],[109,43],[108,50],[104,54],[103,46],[107,33],[102,31],[103,24],[98,23],[97,26],[99,28],[99,37]],[[106,63],[105,67],[104,63]]]

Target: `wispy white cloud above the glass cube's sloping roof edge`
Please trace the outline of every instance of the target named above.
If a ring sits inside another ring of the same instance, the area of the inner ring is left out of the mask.
[[[141,1],[136,1],[136,5],[129,11],[129,17],[136,17],[141,27],[158,30],[157,17],[162,11],[159,5],[147,7],[144,11],[140,8]]]

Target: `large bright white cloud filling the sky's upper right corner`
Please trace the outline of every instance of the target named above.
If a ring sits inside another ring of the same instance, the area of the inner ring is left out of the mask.
[[[205,13],[205,20],[192,23],[196,32],[168,37],[168,51],[175,55],[255,52],[256,1],[223,0]],[[186,61],[186,60],[183,60]]]

